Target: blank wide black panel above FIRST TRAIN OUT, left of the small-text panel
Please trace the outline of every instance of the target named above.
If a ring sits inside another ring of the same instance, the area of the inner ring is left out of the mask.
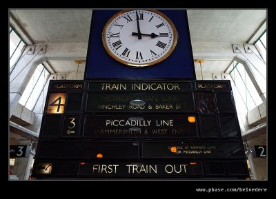
[[[37,158],[138,158],[137,142],[44,141],[39,143]]]

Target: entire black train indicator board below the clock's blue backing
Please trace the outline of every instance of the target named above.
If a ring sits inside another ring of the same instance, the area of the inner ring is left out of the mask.
[[[32,176],[245,179],[229,81],[50,81]]]

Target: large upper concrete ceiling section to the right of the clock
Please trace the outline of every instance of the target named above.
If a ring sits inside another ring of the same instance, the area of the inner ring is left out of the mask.
[[[266,19],[266,10],[188,10],[193,42],[246,43]]]

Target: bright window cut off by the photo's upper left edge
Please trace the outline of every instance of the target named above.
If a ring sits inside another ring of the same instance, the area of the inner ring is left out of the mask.
[[[23,41],[17,32],[10,27],[10,71],[14,67],[14,64],[21,56],[23,48],[25,48],[25,41]]]

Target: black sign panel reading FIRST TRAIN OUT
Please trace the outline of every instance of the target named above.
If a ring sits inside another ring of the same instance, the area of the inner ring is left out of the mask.
[[[80,163],[80,176],[201,176],[201,163]]]

